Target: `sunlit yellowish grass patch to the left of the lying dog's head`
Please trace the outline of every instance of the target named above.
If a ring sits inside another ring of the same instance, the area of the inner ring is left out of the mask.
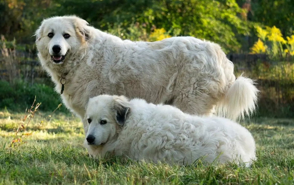
[[[49,115],[49,113],[36,112],[26,130],[26,132],[31,132],[32,135],[24,139],[27,142],[25,146],[50,141],[68,143],[73,146],[82,145],[81,140],[83,139],[84,131],[82,123],[77,117],[54,114],[44,120],[46,115]],[[17,128],[22,117],[21,113],[0,112],[0,146],[5,143],[10,144],[11,138],[15,134],[14,128]],[[41,123],[42,120],[44,121]],[[39,126],[40,123],[41,125]]]

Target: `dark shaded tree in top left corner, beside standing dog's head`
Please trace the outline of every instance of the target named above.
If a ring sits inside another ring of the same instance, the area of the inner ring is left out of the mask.
[[[17,43],[34,42],[34,31],[40,21],[54,14],[51,0],[0,0],[0,35]]]

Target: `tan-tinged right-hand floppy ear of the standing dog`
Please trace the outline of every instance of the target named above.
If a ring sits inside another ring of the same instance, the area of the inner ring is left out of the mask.
[[[79,17],[73,17],[74,28],[76,29],[76,35],[81,38],[82,42],[86,42],[90,39],[90,30],[88,29],[89,23]]]

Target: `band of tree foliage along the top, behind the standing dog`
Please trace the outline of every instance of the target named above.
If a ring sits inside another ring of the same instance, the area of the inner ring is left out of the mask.
[[[43,18],[75,14],[123,39],[152,41],[154,31],[164,30],[158,38],[194,36],[219,43],[227,53],[240,52],[253,27],[244,15],[252,11],[253,21],[287,35],[294,23],[292,0],[251,1],[246,9],[250,0],[0,0],[0,34],[33,44]]]

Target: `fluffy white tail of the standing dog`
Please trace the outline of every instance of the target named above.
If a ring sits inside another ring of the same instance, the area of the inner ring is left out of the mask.
[[[225,93],[223,99],[216,107],[218,116],[233,121],[250,116],[257,107],[259,90],[250,78],[240,75]]]

